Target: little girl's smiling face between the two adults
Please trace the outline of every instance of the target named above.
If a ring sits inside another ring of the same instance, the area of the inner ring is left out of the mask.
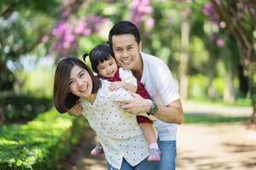
[[[102,77],[113,77],[118,70],[118,66],[113,57],[110,57],[108,60],[99,63],[96,68]]]

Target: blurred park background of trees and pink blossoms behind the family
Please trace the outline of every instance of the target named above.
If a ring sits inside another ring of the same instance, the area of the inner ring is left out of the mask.
[[[13,0],[0,1],[0,14],[4,127],[26,125],[49,111],[56,62],[70,55],[81,58],[107,42],[108,31],[120,20],[135,23],[143,52],[171,69],[185,124],[255,127],[254,0]]]

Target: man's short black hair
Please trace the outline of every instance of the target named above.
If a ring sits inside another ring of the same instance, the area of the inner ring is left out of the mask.
[[[135,37],[135,41],[137,42],[137,44],[141,42],[140,32],[138,31],[137,26],[135,26],[132,22],[128,20],[123,20],[115,24],[113,28],[109,31],[108,43],[110,47],[112,47],[113,45],[113,36],[121,36],[125,34],[133,35]]]

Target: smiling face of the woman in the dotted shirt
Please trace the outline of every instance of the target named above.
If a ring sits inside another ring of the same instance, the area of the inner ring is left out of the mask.
[[[92,81],[88,71],[78,65],[74,65],[69,77],[70,92],[86,99],[90,96],[92,88]]]

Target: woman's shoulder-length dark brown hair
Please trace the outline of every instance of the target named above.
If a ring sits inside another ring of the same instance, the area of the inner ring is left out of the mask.
[[[95,94],[102,86],[102,82],[93,75],[90,68],[82,60],[75,57],[61,59],[56,66],[54,80],[54,103],[56,110],[60,113],[70,110],[79,99],[79,96],[72,94],[69,89],[70,72],[74,65],[88,71],[93,86],[92,94]]]

